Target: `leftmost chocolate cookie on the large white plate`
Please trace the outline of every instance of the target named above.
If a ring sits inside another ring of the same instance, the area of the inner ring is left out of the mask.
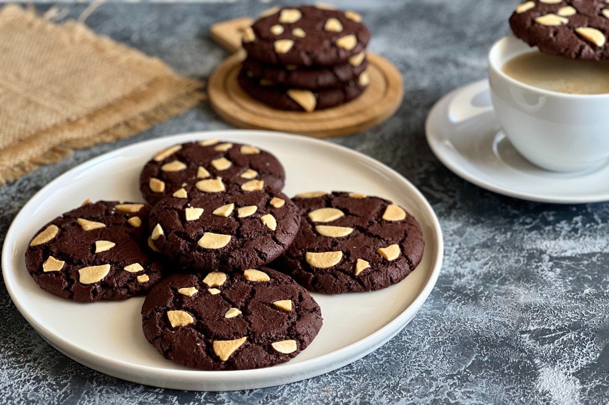
[[[143,294],[163,275],[147,247],[144,204],[98,201],[46,224],[26,251],[40,288],[75,301],[122,300]]]

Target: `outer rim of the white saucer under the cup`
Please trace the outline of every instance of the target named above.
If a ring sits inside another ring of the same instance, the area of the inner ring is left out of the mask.
[[[446,102],[446,100],[450,99],[455,94],[463,91],[466,88],[482,86],[484,83],[486,83],[488,87],[488,79],[483,79],[454,89],[438,100],[429,111],[429,115],[425,122],[425,134],[427,137],[427,142],[432,152],[435,154],[435,157],[437,157],[443,165],[445,165],[449,170],[452,171],[452,173],[456,174],[460,178],[476,184],[483,189],[513,198],[525,199],[527,201],[549,202],[551,204],[586,204],[589,202],[602,202],[609,200],[609,193],[598,193],[594,196],[560,196],[519,192],[515,189],[507,189],[501,184],[485,181],[484,179],[477,177],[475,172],[472,173],[461,167],[459,165],[459,160],[464,159],[464,157],[461,154],[456,153],[453,148],[447,148],[445,145],[443,145],[445,137],[438,134],[436,130],[432,129],[432,126],[435,125],[434,120],[442,119],[443,104]]]

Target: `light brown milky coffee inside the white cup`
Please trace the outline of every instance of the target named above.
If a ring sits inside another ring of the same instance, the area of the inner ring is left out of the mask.
[[[501,70],[526,85],[549,91],[609,93],[609,61],[571,60],[529,52],[510,59]]]

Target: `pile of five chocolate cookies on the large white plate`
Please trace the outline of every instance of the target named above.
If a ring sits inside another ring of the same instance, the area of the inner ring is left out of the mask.
[[[144,336],[188,367],[286,362],[322,327],[307,289],[386,288],[423,255],[421,227],[403,208],[361,193],[290,199],[281,163],[252,145],[174,145],[139,180],[148,204],[85,201],[37,232],[27,269],[65,299],[147,294]]]

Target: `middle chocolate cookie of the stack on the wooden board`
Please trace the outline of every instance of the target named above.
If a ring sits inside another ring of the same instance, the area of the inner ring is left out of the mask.
[[[344,87],[350,81],[357,81],[359,75],[368,67],[368,61],[362,52],[350,58],[351,63],[328,67],[311,67],[286,69],[272,64],[264,64],[252,58],[243,61],[243,71],[248,78],[259,80],[261,85],[279,85],[297,89],[327,89]]]

